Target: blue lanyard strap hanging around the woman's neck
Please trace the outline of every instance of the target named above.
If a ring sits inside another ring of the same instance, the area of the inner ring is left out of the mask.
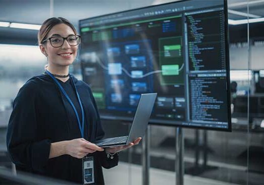
[[[80,96],[79,96],[79,93],[77,91],[77,88],[75,86],[75,83],[74,83],[74,88],[75,88],[75,91],[76,91],[76,94],[77,94],[77,97],[78,97],[78,101],[79,101],[79,104],[81,106],[81,110],[82,110],[82,125],[81,125],[81,121],[80,121],[80,118],[79,118],[79,115],[78,115],[78,112],[72,102],[72,100],[70,99],[70,97],[68,96],[68,94],[65,92],[65,90],[62,88],[62,86],[60,85],[60,83],[57,81],[57,79],[49,72],[46,70],[46,73],[54,80],[54,82],[57,84],[57,86],[59,87],[60,91],[64,94],[64,96],[68,99],[69,103],[72,105],[73,109],[74,109],[74,112],[76,114],[76,118],[78,120],[78,125],[79,125],[79,129],[80,129],[80,132],[81,132],[81,135],[82,135],[82,138],[84,138],[84,108],[83,108],[83,105],[82,105],[82,102],[81,102],[81,99],[80,99]],[[72,76],[70,75],[70,78],[72,78]]]

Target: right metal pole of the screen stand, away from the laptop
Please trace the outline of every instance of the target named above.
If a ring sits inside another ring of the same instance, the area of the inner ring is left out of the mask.
[[[183,133],[182,129],[176,128],[176,160],[175,160],[175,171],[176,171],[176,185],[183,185]]]

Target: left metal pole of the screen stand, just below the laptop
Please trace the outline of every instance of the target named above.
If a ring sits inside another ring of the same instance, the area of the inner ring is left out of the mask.
[[[149,185],[150,182],[150,156],[149,156],[149,145],[150,142],[150,126],[148,126],[148,129],[146,131],[146,135],[143,138],[142,141],[142,184],[143,185]]]

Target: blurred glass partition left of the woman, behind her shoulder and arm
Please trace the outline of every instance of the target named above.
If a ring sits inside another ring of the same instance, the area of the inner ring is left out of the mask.
[[[43,73],[47,63],[38,46],[0,43],[0,167],[13,168],[7,155],[6,133],[12,103],[28,79]]]

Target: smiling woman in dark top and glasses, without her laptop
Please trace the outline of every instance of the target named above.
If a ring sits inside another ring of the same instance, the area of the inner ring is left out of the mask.
[[[45,74],[20,89],[10,117],[7,146],[18,170],[84,183],[83,158],[92,157],[94,180],[104,184],[102,167],[118,163],[117,152],[137,145],[100,148],[100,117],[91,89],[69,75],[80,43],[74,26],[64,18],[44,21],[38,41],[48,59]]]

